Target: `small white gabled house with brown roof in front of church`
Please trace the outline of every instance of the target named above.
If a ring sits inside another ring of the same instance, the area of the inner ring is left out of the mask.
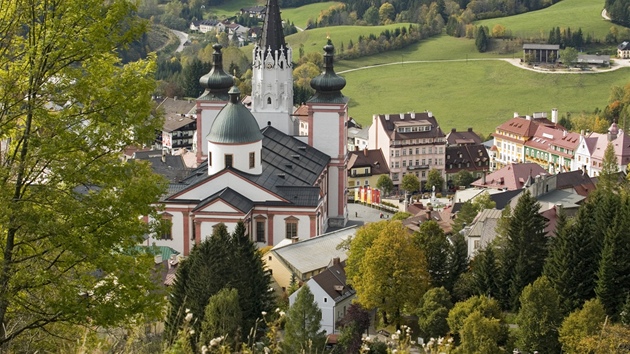
[[[326,334],[339,333],[337,321],[346,315],[346,311],[356,298],[356,291],[346,283],[345,262],[333,258],[332,264],[309,279],[306,285],[322,312],[321,329],[326,331]],[[295,303],[301,289],[289,296],[289,305]]]

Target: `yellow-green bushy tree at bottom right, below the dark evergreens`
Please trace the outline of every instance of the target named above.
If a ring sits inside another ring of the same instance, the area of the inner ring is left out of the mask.
[[[581,309],[577,309],[564,321],[559,329],[559,339],[562,344],[562,352],[567,354],[583,353],[582,341],[599,333],[606,320],[606,312],[602,303],[592,299],[584,303]]]

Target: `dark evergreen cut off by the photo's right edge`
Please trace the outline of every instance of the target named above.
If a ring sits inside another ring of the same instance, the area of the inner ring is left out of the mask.
[[[623,196],[620,210],[606,231],[597,271],[595,293],[606,313],[619,318],[630,292],[630,198]]]

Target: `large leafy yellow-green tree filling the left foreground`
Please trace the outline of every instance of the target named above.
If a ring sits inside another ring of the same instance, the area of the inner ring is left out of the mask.
[[[165,184],[120,160],[162,124],[154,58],[116,57],[145,23],[123,0],[0,7],[0,351],[157,318],[152,256],[132,249]]]

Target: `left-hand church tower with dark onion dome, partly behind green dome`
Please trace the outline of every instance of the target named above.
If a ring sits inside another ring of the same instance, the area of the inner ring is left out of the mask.
[[[234,79],[223,71],[223,55],[221,45],[212,46],[212,69],[199,79],[201,86],[205,88],[201,97],[197,98],[197,163],[201,163],[208,157],[208,145],[205,138],[210,132],[210,127],[219,111],[228,103],[228,91],[234,85]]]

